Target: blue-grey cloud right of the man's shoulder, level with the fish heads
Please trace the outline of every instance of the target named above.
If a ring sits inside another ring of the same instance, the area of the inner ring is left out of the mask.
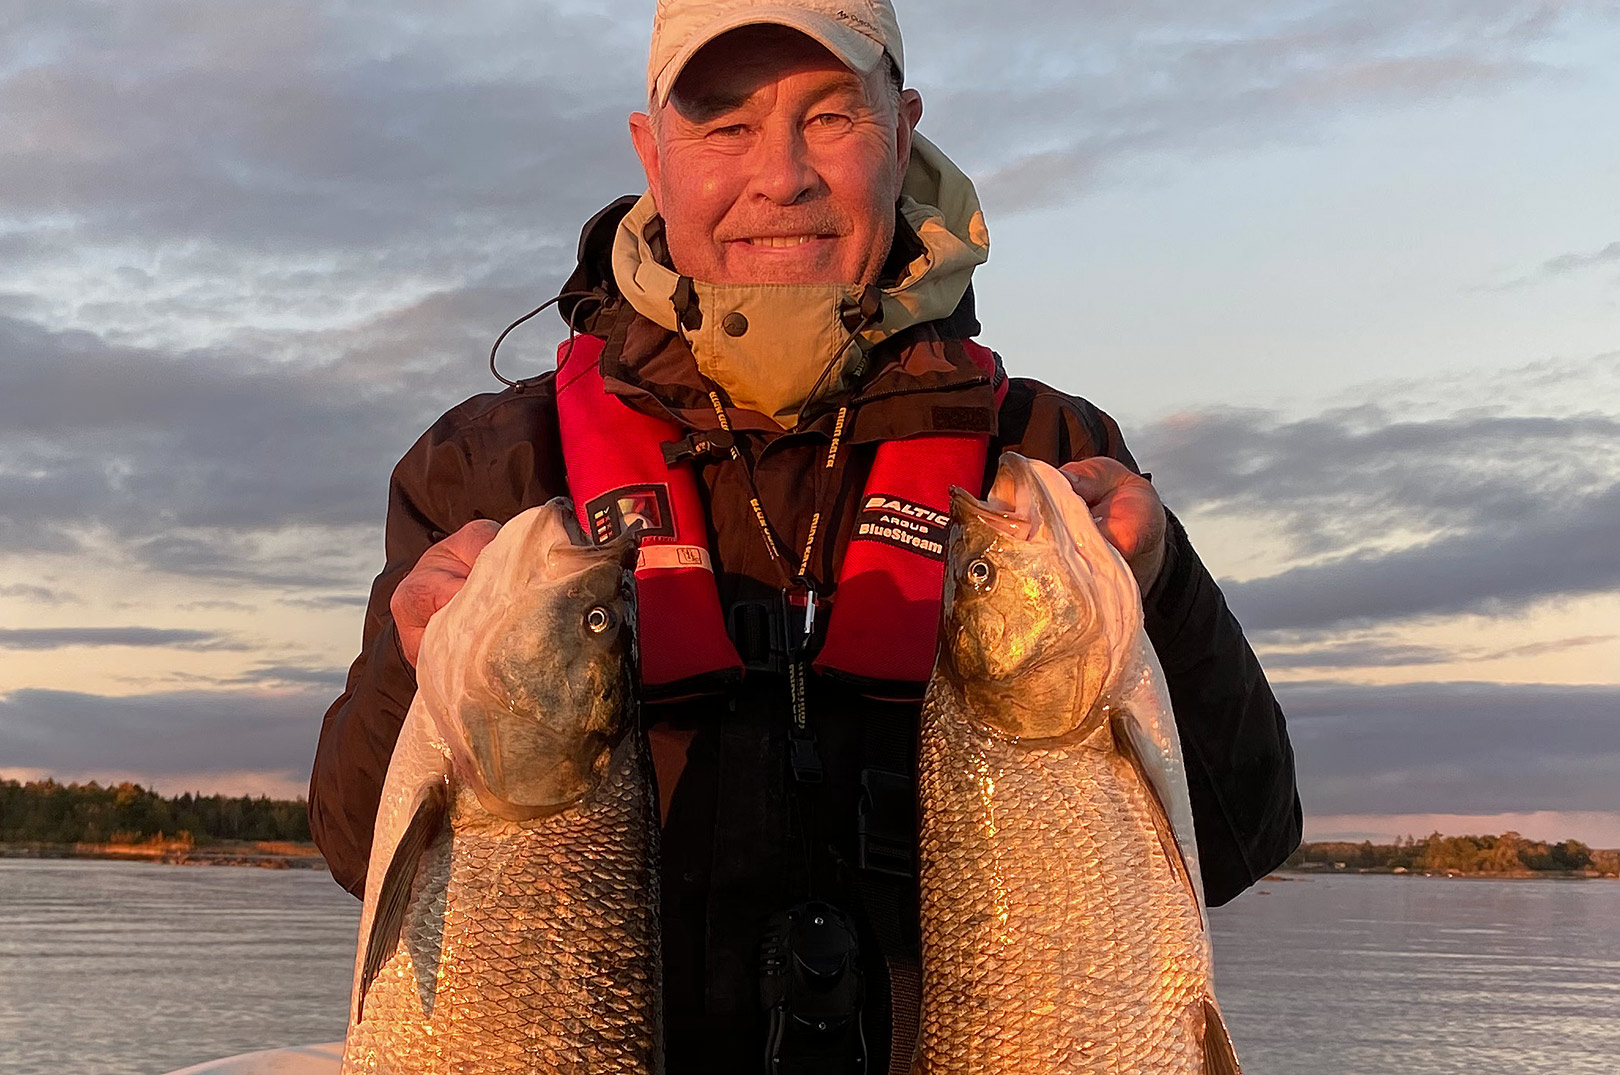
[[[1178,512],[1259,521],[1278,542],[1272,573],[1223,583],[1256,631],[1620,589],[1620,418],[1609,414],[1213,410],[1149,429],[1137,455]]]

